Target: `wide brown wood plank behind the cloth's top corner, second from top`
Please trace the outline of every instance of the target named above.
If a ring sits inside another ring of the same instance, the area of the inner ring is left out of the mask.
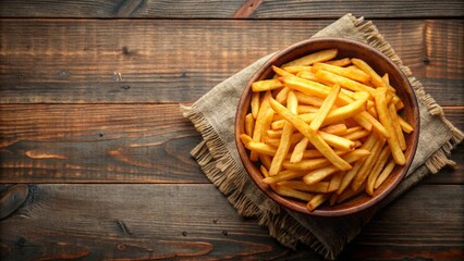
[[[194,101],[331,22],[2,20],[0,102]],[[439,103],[463,104],[463,21],[375,23]]]

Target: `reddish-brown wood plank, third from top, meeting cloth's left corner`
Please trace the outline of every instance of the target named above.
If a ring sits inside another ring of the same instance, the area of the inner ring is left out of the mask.
[[[464,129],[462,110],[444,112]],[[208,183],[199,140],[179,104],[1,104],[0,182]],[[462,147],[430,183],[464,183]]]

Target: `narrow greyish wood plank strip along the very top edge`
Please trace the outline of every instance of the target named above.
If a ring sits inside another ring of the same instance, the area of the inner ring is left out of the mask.
[[[3,17],[170,17],[170,18],[228,18],[237,17],[245,1],[13,1],[1,2]],[[333,18],[345,13],[366,17],[449,17],[462,16],[464,7],[460,0],[431,1],[248,1],[246,9],[252,18]],[[255,7],[257,5],[257,7]],[[254,11],[254,12],[253,12]],[[240,16],[239,16],[240,17]]]

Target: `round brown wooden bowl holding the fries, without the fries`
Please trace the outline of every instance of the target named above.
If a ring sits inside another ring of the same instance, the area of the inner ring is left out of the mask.
[[[371,197],[367,194],[361,194],[359,196],[340,204],[335,204],[333,207],[323,204],[314,211],[309,211],[307,210],[305,202],[282,197],[276,194],[269,187],[269,185],[262,183],[262,175],[259,172],[259,163],[254,163],[249,160],[248,151],[241,142],[239,136],[245,133],[245,115],[249,112],[249,101],[253,92],[252,84],[254,82],[271,78],[273,76],[273,71],[271,67],[272,65],[280,66],[303,55],[331,48],[339,49],[339,55],[335,59],[358,58],[366,61],[379,74],[389,74],[390,84],[396,88],[398,96],[404,103],[404,109],[402,110],[401,114],[404,120],[414,127],[414,132],[411,135],[405,135],[407,145],[407,149],[405,151],[406,164],[403,166],[396,165],[390,176],[378,189],[375,190]],[[269,198],[273,199],[280,206],[304,214],[319,216],[340,216],[353,214],[378,203],[384,197],[387,197],[387,195],[389,195],[403,179],[413,161],[417,148],[418,133],[419,113],[417,100],[413,88],[403,72],[389,58],[370,46],[343,38],[313,38],[292,45],[274,54],[249,79],[240,99],[235,116],[235,144],[243,165],[255,184],[262,190],[262,192],[265,192]]]

